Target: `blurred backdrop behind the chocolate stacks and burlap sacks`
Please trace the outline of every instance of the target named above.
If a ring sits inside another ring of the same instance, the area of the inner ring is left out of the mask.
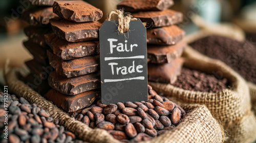
[[[24,66],[24,61],[33,57],[23,47],[26,40],[23,28],[27,24],[20,20],[24,12],[23,1],[0,0],[0,85],[5,85],[3,68],[5,63],[11,67]],[[103,11],[106,15],[116,9],[120,0],[88,0],[86,1]],[[199,15],[206,23],[231,23],[237,25],[247,35],[247,38],[256,43],[256,0],[174,0],[175,5],[170,9],[180,11],[184,20],[178,26],[189,35],[200,30],[200,23],[195,24],[191,17]],[[2,88],[1,88],[2,89]]]

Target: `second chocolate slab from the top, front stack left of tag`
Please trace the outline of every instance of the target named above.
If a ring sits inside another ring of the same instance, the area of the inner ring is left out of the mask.
[[[69,42],[88,41],[99,38],[99,21],[93,22],[71,22],[61,18],[50,19],[55,34]]]

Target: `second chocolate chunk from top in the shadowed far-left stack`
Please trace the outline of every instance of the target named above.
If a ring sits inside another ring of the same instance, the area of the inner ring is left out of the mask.
[[[48,25],[49,19],[57,17],[52,11],[52,7],[33,8],[26,10],[22,14],[22,19],[27,21],[31,26]]]

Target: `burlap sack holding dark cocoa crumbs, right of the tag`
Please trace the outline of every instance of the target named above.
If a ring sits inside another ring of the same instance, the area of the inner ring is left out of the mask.
[[[256,121],[252,113],[249,88],[246,81],[220,60],[208,58],[186,47],[184,65],[225,77],[231,82],[231,89],[217,93],[195,92],[174,87],[170,84],[150,82],[157,92],[187,104],[206,105],[212,115],[220,120],[227,133],[226,142],[252,142],[256,139]]]

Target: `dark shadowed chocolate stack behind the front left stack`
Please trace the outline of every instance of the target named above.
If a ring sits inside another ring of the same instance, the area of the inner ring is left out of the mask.
[[[47,58],[49,46],[45,41],[45,34],[53,33],[49,19],[58,17],[53,13],[53,0],[30,0],[33,5],[22,14],[22,19],[29,26],[24,29],[28,40],[24,46],[33,55],[34,59],[27,61],[26,65],[30,69],[30,74],[26,77],[27,84],[37,92],[44,94],[50,87],[48,85],[48,75],[51,72]]]

